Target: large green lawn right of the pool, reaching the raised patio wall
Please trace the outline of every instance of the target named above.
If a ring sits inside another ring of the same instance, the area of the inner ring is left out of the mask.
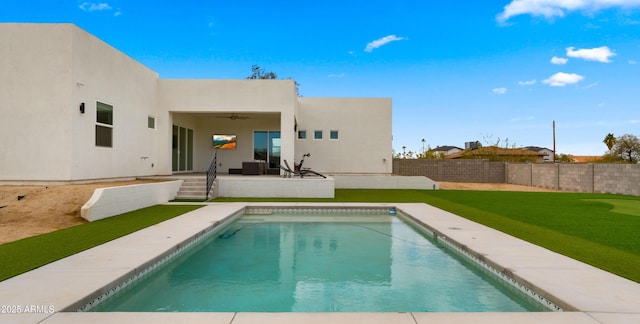
[[[423,202],[640,282],[640,197],[555,192],[336,190],[334,199],[224,201]]]

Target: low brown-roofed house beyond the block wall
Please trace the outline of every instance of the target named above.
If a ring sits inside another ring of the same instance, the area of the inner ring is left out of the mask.
[[[445,157],[446,159],[482,159],[507,162],[543,162],[544,154],[525,149],[509,149],[485,146],[475,150],[464,150]]]

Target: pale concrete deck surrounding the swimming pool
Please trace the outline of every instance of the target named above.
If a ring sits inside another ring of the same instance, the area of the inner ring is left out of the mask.
[[[201,205],[202,203],[198,203]],[[203,208],[0,282],[1,322],[114,321],[226,323],[357,321],[640,322],[640,284],[422,203],[207,203]],[[570,312],[553,313],[77,313],[87,296],[131,277],[157,256],[202,234],[245,206],[395,207],[483,261],[542,292]],[[114,252],[115,251],[115,252]],[[87,275],[90,273],[91,275]],[[6,306],[14,306],[7,308]],[[18,313],[18,307],[21,308]],[[7,314],[7,311],[9,314]]]

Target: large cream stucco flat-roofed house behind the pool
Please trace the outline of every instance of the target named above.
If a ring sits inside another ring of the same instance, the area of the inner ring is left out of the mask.
[[[73,24],[0,24],[0,181],[218,172],[302,154],[327,173],[392,172],[390,98],[307,98],[292,80],[162,79]]]

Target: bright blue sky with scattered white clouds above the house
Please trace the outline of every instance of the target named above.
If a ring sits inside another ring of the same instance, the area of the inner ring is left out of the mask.
[[[258,64],[305,97],[393,98],[393,146],[602,155],[640,136],[640,0],[2,0],[0,22],[68,22],[162,78]],[[0,45],[1,46],[1,45]]]

